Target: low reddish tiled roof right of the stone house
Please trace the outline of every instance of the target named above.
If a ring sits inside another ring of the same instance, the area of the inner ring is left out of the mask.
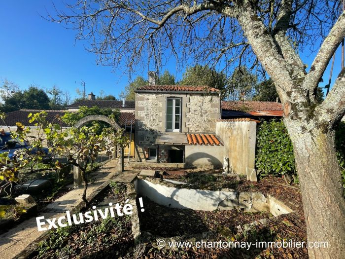
[[[282,111],[283,106],[277,102],[261,101],[222,101],[222,110],[231,111]]]

